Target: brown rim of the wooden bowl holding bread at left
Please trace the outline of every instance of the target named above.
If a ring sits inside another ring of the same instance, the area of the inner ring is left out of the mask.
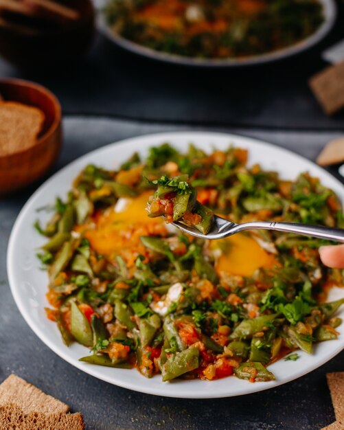
[[[21,155],[21,154],[24,154],[25,152],[30,152],[32,151],[33,148],[36,148],[37,146],[44,144],[47,138],[53,135],[56,132],[58,126],[60,126],[61,112],[62,112],[60,102],[58,101],[58,98],[56,97],[56,95],[51,93],[49,89],[47,89],[46,87],[43,87],[43,85],[41,84],[37,84],[36,82],[32,82],[30,80],[17,79],[17,78],[0,79],[0,85],[1,84],[15,84],[15,85],[18,85],[19,87],[28,87],[28,88],[36,89],[37,91],[41,91],[41,93],[45,94],[50,100],[52,100],[54,104],[55,115],[54,115],[54,121],[51,124],[51,126],[47,129],[44,135],[42,135],[41,137],[39,137],[39,139],[36,140],[34,145],[29,146],[29,148],[26,148],[24,150],[12,152],[12,154],[0,155],[0,161],[4,159],[10,159],[12,157],[17,157],[19,154]],[[8,100],[8,101],[17,102],[17,100]],[[18,102],[21,103],[20,101]],[[27,106],[32,106],[32,105],[28,104]],[[41,109],[41,108],[38,108],[38,109]],[[41,109],[41,111],[43,111],[43,109]],[[45,112],[43,111],[43,113]]]

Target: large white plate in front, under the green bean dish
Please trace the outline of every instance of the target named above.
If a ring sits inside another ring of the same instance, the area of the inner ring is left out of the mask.
[[[34,221],[40,218],[44,223],[51,215],[36,212],[37,209],[54,203],[56,196],[65,196],[71,181],[87,163],[117,168],[133,152],[138,151],[145,156],[150,146],[157,146],[163,142],[170,142],[179,150],[185,150],[190,142],[208,151],[213,146],[227,148],[229,144],[247,148],[250,164],[260,163],[264,169],[277,170],[285,179],[295,179],[299,172],[308,171],[319,177],[324,185],[332,188],[344,202],[343,185],[325,170],[293,152],[248,137],[203,132],[161,133],[127,139],[90,152],[54,174],[38,188],[21,210],[12,229],[8,246],[10,287],[21,314],[36,335],[62,359],[96,378],[138,392],[180,398],[239,396],[277,387],[307,374],[343,350],[344,334],[334,341],[320,343],[314,348],[312,355],[299,352],[300,358],[295,362],[278,361],[269,367],[275,374],[276,381],[268,383],[249,383],[234,377],[211,382],[194,380],[163,383],[161,376],[146,379],[135,369],[122,370],[81,363],[78,359],[89,354],[89,350],[78,343],[73,343],[69,348],[62,343],[56,324],[48,321],[45,316],[47,273],[40,270],[40,264],[35,256],[37,248],[43,245],[45,240],[34,230]],[[331,299],[343,297],[344,290],[334,288],[331,295]],[[339,315],[344,318],[344,310]],[[344,328],[341,327],[339,330],[343,331]]]

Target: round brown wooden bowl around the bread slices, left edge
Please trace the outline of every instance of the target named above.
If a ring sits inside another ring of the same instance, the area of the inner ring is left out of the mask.
[[[5,100],[36,106],[45,114],[43,130],[34,146],[0,155],[0,193],[18,190],[36,181],[56,161],[62,144],[61,106],[50,91],[34,82],[1,79]]]

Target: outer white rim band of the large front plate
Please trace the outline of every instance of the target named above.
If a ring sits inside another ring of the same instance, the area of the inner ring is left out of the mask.
[[[110,150],[113,147],[125,146],[126,144],[137,144],[141,141],[141,139],[146,139],[146,140],[147,139],[148,140],[149,139],[160,139],[161,142],[167,142],[169,139],[172,140],[174,137],[184,137],[184,139],[188,140],[189,142],[192,140],[196,140],[197,137],[203,137],[205,139],[209,139],[209,141],[211,141],[212,138],[216,139],[216,137],[220,137],[220,138],[228,139],[229,142],[231,142],[231,140],[233,140],[234,146],[242,146],[242,145],[244,146],[245,142],[246,142],[246,144],[247,144],[247,142],[250,142],[252,144],[260,144],[261,146],[264,146],[267,148],[275,148],[277,150],[280,150],[281,152],[285,152],[285,153],[288,153],[289,155],[292,155],[294,157],[302,159],[302,161],[306,162],[306,164],[308,164],[309,166],[317,167],[317,169],[319,169],[325,173],[326,177],[330,177],[341,188],[344,187],[343,183],[341,183],[341,181],[339,181],[339,179],[336,179],[336,177],[334,177],[332,174],[330,174],[330,172],[321,168],[321,166],[317,166],[316,163],[307,159],[303,155],[299,155],[299,154],[297,154],[297,152],[294,152],[293,150],[289,150],[288,148],[284,148],[282,146],[272,144],[270,142],[265,142],[264,140],[261,140],[261,139],[255,139],[254,137],[249,137],[249,136],[246,137],[245,135],[238,135],[236,133],[223,133],[223,132],[213,132],[213,131],[172,131],[172,132],[167,131],[167,132],[160,132],[160,133],[148,133],[148,134],[139,135],[136,137],[129,137],[126,139],[121,139],[117,142],[115,141],[115,142],[112,142],[111,144],[106,144],[104,146],[100,146],[99,148],[95,148],[94,150],[91,150],[91,151],[87,152],[86,154],[84,154],[84,155],[74,159],[70,163],[68,163],[66,166],[64,166],[63,168],[58,170],[58,172],[55,172],[54,174],[52,174],[51,177],[49,177],[42,185],[40,185],[37,188],[37,190],[32,194],[32,196],[30,196],[30,198],[23,205],[23,207],[21,208],[21,211],[19,212],[18,216],[16,217],[16,220],[15,220],[14,225],[12,227],[12,231],[10,233],[10,239],[8,241],[8,250],[7,250],[8,281],[10,284],[10,290],[11,290],[12,296],[14,298],[14,302],[16,303],[16,306],[19,308],[19,311],[20,311],[21,315],[23,316],[23,318],[25,319],[25,322],[27,323],[27,325],[35,333],[35,335],[38,337],[38,339],[41,339],[41,341],[43,341],[43,343],[45,343],[45,345],[49,349],[51,349],[60,358],[67,361],[67,363],[73,365],[74,367],[78,368],[79,370],[82,370],[83,372],[90,374],[91,376],[94,376],[95,378],[99,378],[102,381],[106,381],[106,382],[111,383],[112,385],[116,385],[118,387],[122,387],[122,388],[126,388],[126,389],[132,389],[133,391],[141,392],[144,394],[152,394],[152,395],[156,395],[156,396],[164,396],[164,397],[171,397],[171,398],[195,398],[195,399],[197,399],[197,398],[199,398],[199,399],[227,398],[227,397],[236,397],[236,396],[243,396],[246,394],[253,394],[253,393],[257,393],[257,392],[262,392],[262,391],[265,391],[266,389],[272,389],[272,388],[278,387],[280,385],[284,385],[285,383],[289,383],[290,381],[294,381],[295,379],[300,378],[301,376],[305,376],[306,374],[309,374],[310,372],[317,369],[318,367],[321,367],[321,365],[323,365],[324,363],[327,363],[328,361],[330,361],[333,357],[335,357],[342,350],[344,350],[344,339],[343,339],[343,343],[339,344],[339,346],[334,348],[334,350],[332,351],[332,353],[330,355],[326,355],[325,357],[323,357],[323,359],[321,359],[320,361],[317,361],[316,363],[314,363],[314,365],[311,365],[306,372],[303,370],[299,370],[299,371],[295,372],[293,374],[293,376],[286,377],[283,380],[268,382],[268,383],[264,383],[264,384],[258,385],[258,386],[255,385],[258,388],[253,390],[253,391],[246,392],[244,389],[242,389],[240,392],[236,392],[235,394],[231,394],[230,392],[228,392],[227,394],[223,394],[223,393],[219,394],[219,395],[211,394],[209,396],[209,395],[207,395],[201,391],[199,393],[197,393],[194,391],[187,392],[187,390],[184,390],[184,394],[179,393],[178,395],[176,395],[174,393],[169,394],[168,389],[163,389],[163,392],[161,392],[161,387],[158,387],[156,389],[154,387],[150,387],[149,384],[143,383],[138,388],[135,385],[135,383],[133,384],[133,383],[130,383],[128,381],[117,381],[117,380],[113,381],[113,377],[102,375],[100,373],[100,371],[98,372],[98,370],[97,370],[98,366],[94,366],[94,367],[87,366],[87,365],[85,365],[85,363],[82,363],[78,360],[73,359],[73,357],[70,357],[68,354],[68,348],[65,347],[62,344],[62,342],[60,345],[58,345],[53,340],[50,340],[49,337],[45,336],[39,330],[39,328],[38,329],[36,328],[34,320],[30,317],[30,313],[26,310],[26,308],[24,307],[24,305],[21,302],[21,298],[20,298],[20,294],[19,294],[19,288],[16,288],[16,286],[14,285],[14,283],[15,283],[14,282],[14,270],[15,269],[14,269],[14,265],[12,264],[12,262],[13,262],[13,258],[15,255],[14,245],[16,245],[16,236],[20,230],[21,220],[22,220],[22,218],[25,217],[25,212],[27,212],[27,210],[30,209],[31,204],[37,198],[38,194],[41,194],[41,192],[43,192],[45,190],[45,188],[49,188],[52,181],[54,181],[60,175],[62,176],[65,173],[65,171],[68,171],[69,168],[73,167],[73,165],[77,165],[78,163],[81,163],[84,159],[89,159],[89,157],[91,155],[93,155],[93,153],[95,153],[95,152],[102,152],[103,150],[104,150],[104,152],[106,152],[107,150]],[[155,143],[149,144],[149,142],[147,142],[146,144],[142,145],[141,148],[146,149],[146,148],[149,148],[150,146],[152,146],[154,144]],[[209,142],[209,146],[210,145],[211,145],[211,142]],[[343,335],[344,335],[344,333],[343,333]],[[62,348],[61,348],[61,346],[62,346]],[[99,367],[100,367],[100,369],[102,368],[101,366],[99,366]],[[132,370],[132,371],[134,371],[134,370]],[[144,378],[144,377],[142,376],[142,378]],[[204,381],[204,382],[207,383],[206,381]],[[178,381],[177,381],[177,383],[178,383]]]

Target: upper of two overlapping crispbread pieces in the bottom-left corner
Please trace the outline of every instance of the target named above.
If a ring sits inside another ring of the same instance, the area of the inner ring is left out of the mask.
[[[65,414],[69,411],[68,405],[43,393],[14,374],[8,376],[0,385],[0,405],[5,403],[18,405],[24,414],[30,414],[30,412]]]

